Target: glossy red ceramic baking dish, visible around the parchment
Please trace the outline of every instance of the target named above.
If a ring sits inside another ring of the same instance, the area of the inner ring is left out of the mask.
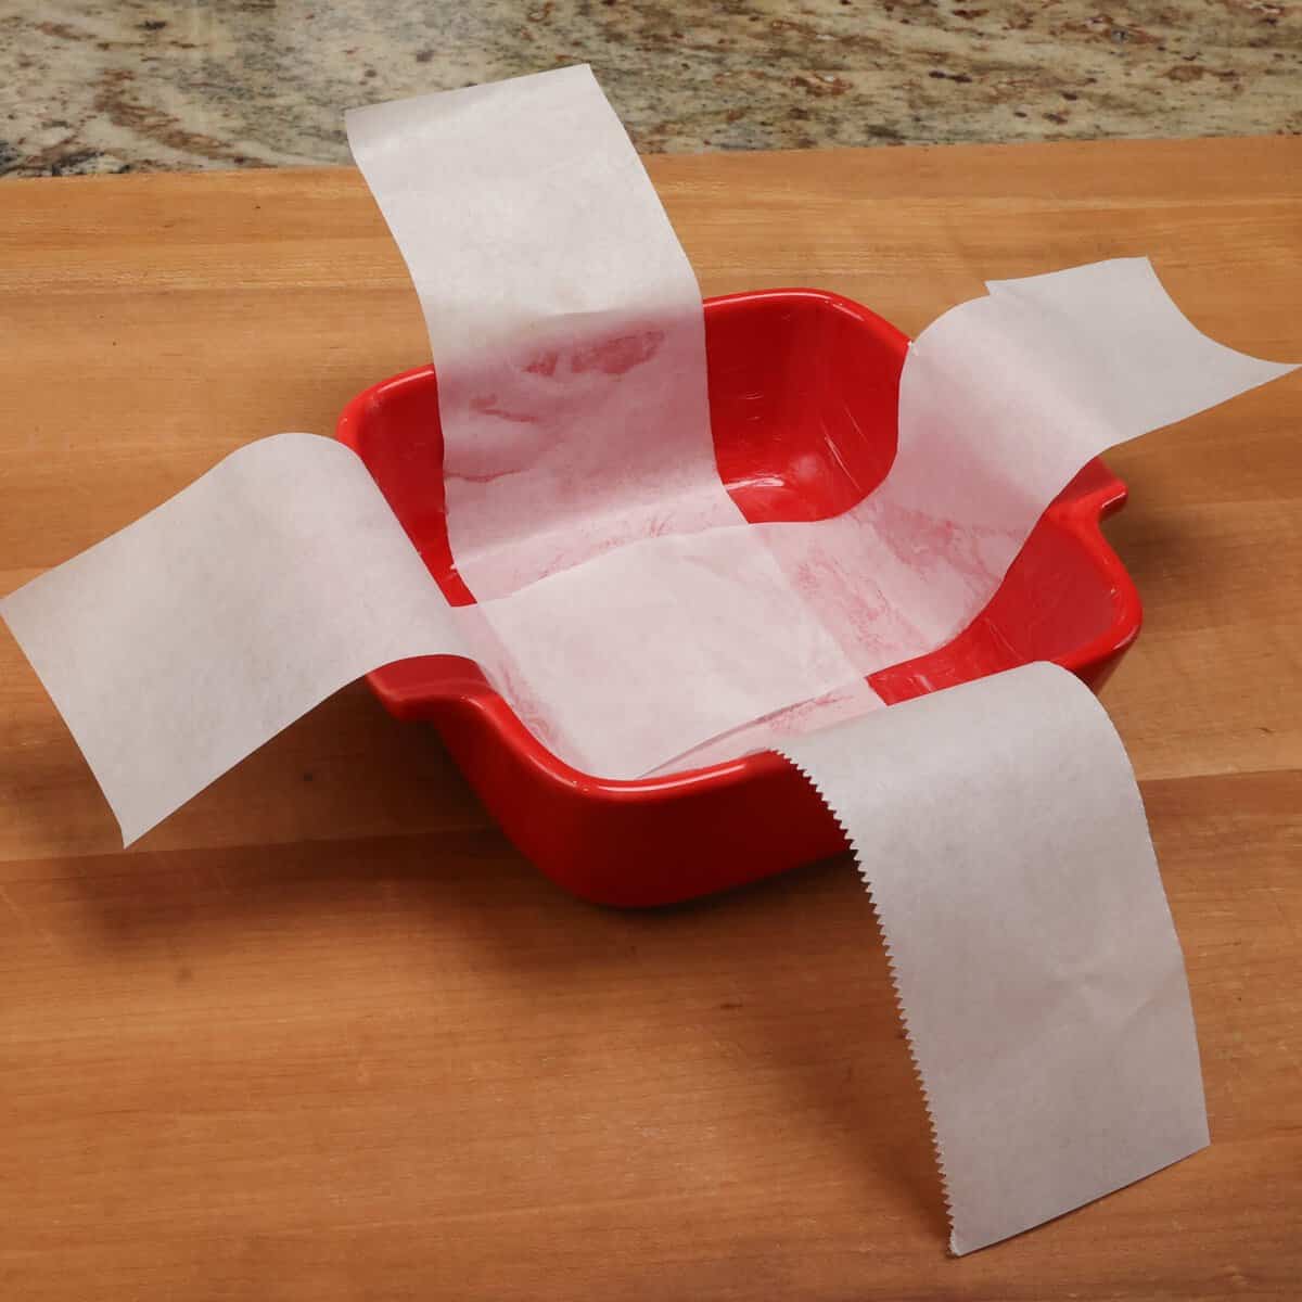
[[[907,339],[838,294],[773,289],[706,302],[719,473],[750,521],[819,519],[872,491],[894,457]],[[434,368],[358,395],[339,437],[366,462],[430,573],[452,565]],[[1098,687],[1139,631],[1139,596],[1099,531],[1125,486],[1100,461],[1048,506],[980,616],[948,646],[874,674],[888,702],[1055,660]],[[772,753],[695,772],[607,781],[552,755],[456,656],[368,676],[391,713],[432,723],[518,849],[560,885],[612,905],[721,891],[844,849],[810,785]]]

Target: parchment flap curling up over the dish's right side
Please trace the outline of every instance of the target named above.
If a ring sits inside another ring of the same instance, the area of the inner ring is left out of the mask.
[[[1147,258],[990,290],[909,348],[875,492],[833,519],[753,526],[862,674],[957,637],[1087,461],[1295,368],[1202,335]]]

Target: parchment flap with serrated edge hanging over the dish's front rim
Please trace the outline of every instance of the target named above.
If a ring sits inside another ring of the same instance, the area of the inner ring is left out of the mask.
[[[1026,665],[781,750],[876,905],[956,1253],[1208,1142],[1143,805],[1086,686]]]

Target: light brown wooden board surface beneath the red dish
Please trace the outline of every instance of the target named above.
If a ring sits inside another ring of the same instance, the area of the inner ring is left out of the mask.
[[[917,332],[984,277],[1147,253],[1204,331],[1302,357],[1302,139],[650,165],[706,293]],[[0,340],[0,591],[427,359],[346,171],[5,185]],[[846,861],[578,904],[361,685],[124,853],[0,631],[0,1295],[1297,1295],[1299,440],[1293,375],[1109,458],[1147,622],[1105,700],[1213,1144],[962,1260]]]

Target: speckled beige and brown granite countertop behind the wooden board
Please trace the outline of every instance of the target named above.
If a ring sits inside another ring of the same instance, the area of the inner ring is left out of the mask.
[[[1266,0],[0,0],[0,173],[341,163],[346,107],[577,61],[644,152],[1302,133]]]

